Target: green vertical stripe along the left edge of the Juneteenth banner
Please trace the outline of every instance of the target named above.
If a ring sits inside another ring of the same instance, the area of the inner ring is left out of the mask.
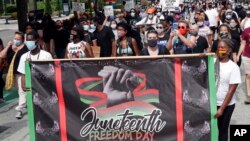
[[[27,95],[27,109],[28,109],[28,124],[30,129],[30,141],[35,141],[35,122],[34,122],[34,108],[32,100],[32,85],[31,85],[31,72],[29,62],[25,63],[25,83],[26,87],[30,88],[30,91],[26,92]]]

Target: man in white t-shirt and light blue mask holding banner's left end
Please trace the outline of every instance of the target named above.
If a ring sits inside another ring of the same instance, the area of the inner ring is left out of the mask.
[[[20,74],[19,81],[21,82],[21,85],[19,85],[24,92],[23,95],[19,95],[19,107],[16,108],[17,114],[16,118],[21,119],[23,117],[23,113],[26,109],[26,94],[25,92],[30,90],[31,88],[27,88],[25,86],[25,62],[26,61],[36,61],[36,60],[52,60],[52,56],[49,52],[46,52],[44,50],[41,50],[38,45],[39,35],[37,32],[32,31],[27,34],[27,39],[25,42],[25,45],[28,48],[28,52],[24,53],[21,58],[18,65],[18,73]],[[22,105],[20,105],[22,104]]]

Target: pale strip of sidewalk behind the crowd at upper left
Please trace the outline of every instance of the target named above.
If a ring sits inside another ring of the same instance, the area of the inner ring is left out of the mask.
[[[64,20],[64,19],[69,19],[73,14],[66,16],[62,15],[61,17],[54,16],[52,19],[54,21],[56,20]],[[4,30],[18,30],[18,23],[17,20],[9,20],[9,24],[5,24],[6,20],[5,19],[0,19],[0,31]]]

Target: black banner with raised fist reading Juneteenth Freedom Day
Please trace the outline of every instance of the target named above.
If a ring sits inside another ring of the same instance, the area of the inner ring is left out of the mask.
[[[217,141],[211,55],[26,63],[31,141]]]

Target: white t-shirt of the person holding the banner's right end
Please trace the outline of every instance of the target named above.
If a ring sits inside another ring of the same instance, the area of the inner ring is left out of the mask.
[[[240,68],[231,60],[226,63],[220,62],[219,87],[217,91],[217,106],[221,106],[226,98],[229,84],[241,83]],[[235,104],[235,95],[228,105]]]

